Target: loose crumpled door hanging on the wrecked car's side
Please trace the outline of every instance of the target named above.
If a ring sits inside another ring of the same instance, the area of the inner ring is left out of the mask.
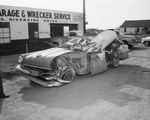
[[[90,56],[90,62],[90,70],[92,75],[101,73],[108,69],[105,53],[92,53]]]

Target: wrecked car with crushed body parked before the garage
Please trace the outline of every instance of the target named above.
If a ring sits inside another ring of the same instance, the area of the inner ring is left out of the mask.
[[[45,87],[70,83],[76,75],[95,75],[108,65],[119,66],[128,58],[128,47],[114,31],[104,31],[92,40],[76,37],[60,47],[22,54],[17,71]]]

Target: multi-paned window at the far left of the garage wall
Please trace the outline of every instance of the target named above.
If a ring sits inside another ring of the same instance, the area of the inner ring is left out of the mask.
[[[0,22],[0,44],[10,43],[10,23]]]

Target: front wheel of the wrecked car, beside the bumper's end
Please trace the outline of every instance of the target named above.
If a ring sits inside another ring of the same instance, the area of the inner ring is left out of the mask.
[[[62,75],[61,79],[64,81],[71,82],[76,77],[76,71],[73,67],[70,67],[64,74]]]

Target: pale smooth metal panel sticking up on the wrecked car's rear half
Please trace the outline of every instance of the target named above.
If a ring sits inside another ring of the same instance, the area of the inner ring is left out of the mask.
[[[114,39],[117,38],[117,34],[114,31],[103,31],[98,34],[95,38],[91,40],[91,42],[95,42],[96,45],[94,47],[105,49]]]

